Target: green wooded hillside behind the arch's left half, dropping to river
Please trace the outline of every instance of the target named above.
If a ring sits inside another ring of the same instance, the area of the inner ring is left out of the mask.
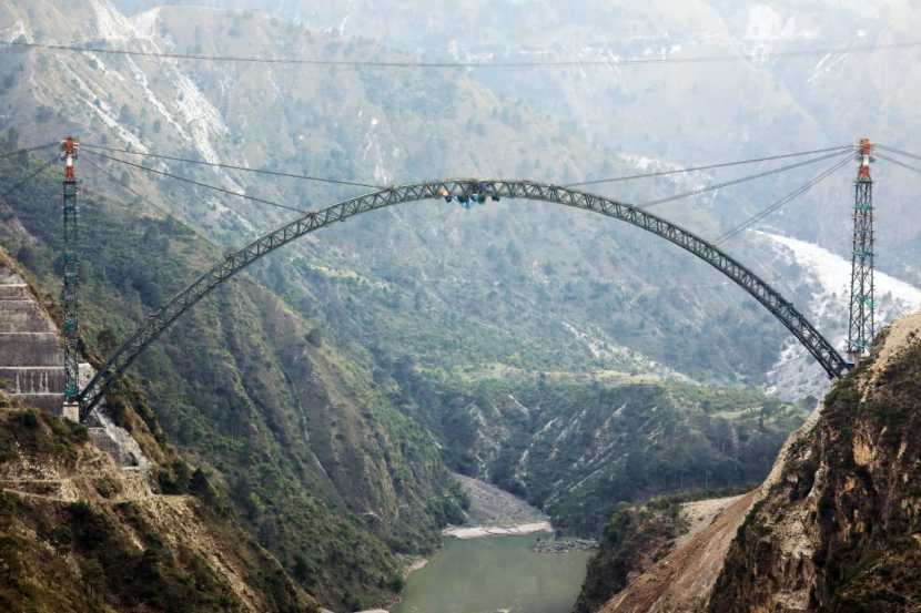
[[[34,241],[0,226],[49,294],[55,195],[45,180],[10,198],[10,217]],[[140,202],[84,200],[82,211],[81,325],[98,360],[219,252]],[[402,575],[394,552],[431,551],[459,517],[434,439],[265,289],[244,277],[215,294],[146,351],[133,370],[140,386],[113,390],[113,417],[134,431],[123,408],[136,406],[154,439],[212,470],[260,542],[324,602],[389,599]],[[164,491],[193,484],[194,474],[166,466]]]

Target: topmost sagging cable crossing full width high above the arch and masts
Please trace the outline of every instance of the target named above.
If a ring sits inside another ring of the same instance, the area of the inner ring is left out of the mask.
[[[722,55],[694,55],[688,58],[610,58],[599,60],[558,60],[558,61],[505,61],[505,62],[414,62],[405,60],[382,61],[382,60],[322,60],[310,58],[261,58],[247,55],[205,55],[198,53],[162,53],[151,51],[138,51],[130,49],[110,49],[107,47],[89,47],[74,44],[52,44],[40,42],[0,41],[0,44],[11,48],[39,49],[47,51],[68,51],[75,53],[100,53],[109,55],[130,55],[141,58],[156,58],[162,60],[193,60],[204,62],[233,62],[250,64],[287,64],[298,67],[326,67],[326,68],[372,68],[372,69],[435,69],[435,70],[462,70],[462,69],[583,69],[590,67],[600,68],[624,68],[645,65],[686,65],[707,64],[723,62],[743,62],[763,60],[760,53],[733,53]],[[920,49],[921,41],[903,41],[890,44],[864,44],[832,47],[824,49],[801,49],[792,51],[778,51],[771,53],[771,58],[802,58],[813,55],[829,55],[843,53],[859,53],[871,51],[895,51]]]

